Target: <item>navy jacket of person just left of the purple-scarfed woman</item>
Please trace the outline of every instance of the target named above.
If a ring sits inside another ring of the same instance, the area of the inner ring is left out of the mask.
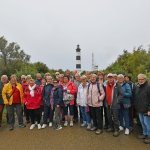
[[[50,106],[50,94],[53,88],[53,84],[47,84],[44,86],[42,91],[42,98],[44,101],[44,106]]]

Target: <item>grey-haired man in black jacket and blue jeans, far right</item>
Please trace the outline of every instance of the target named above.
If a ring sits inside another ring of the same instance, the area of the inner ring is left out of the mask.
[[[150,85],[145,74],[138,75],[138,85],[135,87],[134,100],[143,129],[143,135],[140,135],[139,138],[144,139],[145,144],[150,144]]]

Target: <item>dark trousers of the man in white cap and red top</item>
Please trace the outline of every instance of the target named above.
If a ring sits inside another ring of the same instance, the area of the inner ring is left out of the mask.
[[[107,115],[109,128],[114,129],[114,131],[119,131],[119,109],[111,109],[108,106]]]

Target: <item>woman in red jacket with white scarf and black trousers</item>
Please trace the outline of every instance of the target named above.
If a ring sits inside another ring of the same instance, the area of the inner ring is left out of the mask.
[[[41,102],[41,89],[35,84],[34,79],[29,80],[29,86],[24,91],[24,104],[29,111],[31,118],[30,130],[35,128],[35,119],[38,123],[38,129],[41,129],[40,120],[40,102]]]

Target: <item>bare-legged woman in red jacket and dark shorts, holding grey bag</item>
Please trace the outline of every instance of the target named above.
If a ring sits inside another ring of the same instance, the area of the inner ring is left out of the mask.
[[[73,106],[74,106],[74,97],[75,94],[77,93],[77,88],[76,85],[70,81],[69,76],[64,76],[64,83],[63,83],[63,100],[65,103],[64,106],[64,115],[65,115],[65,123],[64,126],[68,126],[68,108],[70,111],[70,126],[73,126]]]

